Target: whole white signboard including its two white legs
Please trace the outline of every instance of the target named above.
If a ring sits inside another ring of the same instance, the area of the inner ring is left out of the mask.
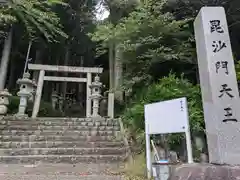
[[[151,134],[185,133],[188,163],[193,163],[186,98],[147,104],[144,107],[144,114],[148,179],[152,176],[150,147]]]

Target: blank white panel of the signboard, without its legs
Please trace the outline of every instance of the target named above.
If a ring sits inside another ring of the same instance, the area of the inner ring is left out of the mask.
[[[146,133],[180,133],[188,129],[186,98],[145,105]]]

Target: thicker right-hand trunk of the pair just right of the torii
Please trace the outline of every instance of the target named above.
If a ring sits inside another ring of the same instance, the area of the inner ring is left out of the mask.
[[[122,91],[122,73],[123,73],[123,66],[122,66],[122,49],[119,44],[115,46],[115,65],[114,65],[114,72],[115,72],[115,99],[118,101],[123,101],[123,91]]]

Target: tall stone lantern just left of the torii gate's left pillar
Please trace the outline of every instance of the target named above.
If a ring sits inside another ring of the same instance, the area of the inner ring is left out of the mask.
[[[24,73],[22,79],[18,79],[17,84],[20,85],[20,90],[17,95],[20,97],[20,104],[18,107],[17,116],[26,117],[25,114],[27,108],[27,101],[32,96],[33,93],[33,81],[30,80],[30,74]]]

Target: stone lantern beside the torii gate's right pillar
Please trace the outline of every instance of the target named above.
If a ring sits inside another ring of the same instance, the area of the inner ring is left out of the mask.
[[[100,102],[100,99],[102,98],[101,96],[102,83],[100,82],[100,77],[98,75],[95,76],[94,81],[90,85],[90,88],[92,90],[92,94],[90,98],[93,100],[92,117],[100,117],[99,102]]]

